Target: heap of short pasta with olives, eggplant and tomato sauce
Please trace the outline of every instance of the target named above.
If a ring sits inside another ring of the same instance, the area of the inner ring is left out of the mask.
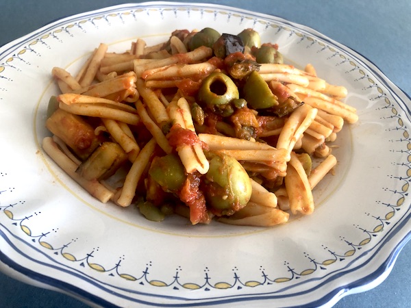
[[[269,227],[312,214],[338,164],[330,143],[358,120],[345,87],[284,64],[253,29],[176,30],[123,53],[101,43],[76,75],[51,75],[61,93],[44,151],[102,203],[149,220]]]

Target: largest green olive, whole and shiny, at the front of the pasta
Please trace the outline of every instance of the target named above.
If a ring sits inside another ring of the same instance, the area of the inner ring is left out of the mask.
[[[251,180],[233,157],[211,152],[206,155],[210,161],[210,168],[205,175],[207,204],[216,215],[232,215],[249,202]]]

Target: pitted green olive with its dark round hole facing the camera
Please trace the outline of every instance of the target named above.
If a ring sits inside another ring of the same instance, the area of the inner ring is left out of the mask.
[[[212,107],[226,105],[240,94],[234,81],[221,72],[214,72],[203,80],[198,92],[198,101]]]

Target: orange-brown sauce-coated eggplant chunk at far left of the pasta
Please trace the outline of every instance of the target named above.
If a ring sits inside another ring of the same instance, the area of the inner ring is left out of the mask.
[[[81,116],[57,109],[47,118],[46,127],[58,136],[82,161],[99,146],[95,129]]]

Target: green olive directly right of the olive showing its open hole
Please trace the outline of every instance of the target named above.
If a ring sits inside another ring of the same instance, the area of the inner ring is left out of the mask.
[[[256,71],[251,72],[242,88],[247,105],[253,109],[266,109],[278,105],[277,97]]]

